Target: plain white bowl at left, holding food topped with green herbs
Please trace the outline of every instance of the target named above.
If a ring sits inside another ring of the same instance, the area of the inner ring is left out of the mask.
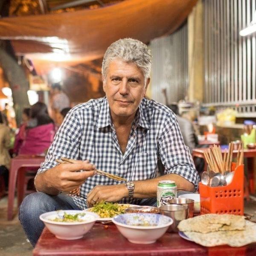
[[[77,214],[82,211],[78,210],[63,210],[67,214]],[[83,212],[84,213],[84,212]],[[58,239],[75,240],[82,238],[87,233],[93,224],[99,218],[94,212],[85,212],[85,215],[81,217],[84,221],[79,222],[56,222],[52,221],[58,217],[58,212],[46,212],[40,215],[41,221]]]

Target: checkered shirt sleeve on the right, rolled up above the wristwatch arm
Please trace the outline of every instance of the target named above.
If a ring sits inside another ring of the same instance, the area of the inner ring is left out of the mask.
[[[198,190],[199,175],[189,148],[184,144],[175,116],[166,120],[159,140],[159,155],[165,174],[177,174],[195,185]]]

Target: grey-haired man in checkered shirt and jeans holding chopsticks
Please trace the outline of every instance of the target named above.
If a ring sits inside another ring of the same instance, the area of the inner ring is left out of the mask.
[[[69,111],[35,178],[40,192],[27,196],[20,207],[21,224],[33,245],[44,227],[38,220],[44,212],[84,209],[102,200],[152,205],[159,180],[197,189],[199,177],[175,115],[144,98],[150,68],[151,54],[142,42],[126,38],[108,47],[102,62],[106,97]],[[61,156],[77,162],[57,165]],[[166,168],[163,177],[157,177],[157,157]],[[96,168],[129,183],[96,175]],[[79,196],[59,194],[78,186]]]

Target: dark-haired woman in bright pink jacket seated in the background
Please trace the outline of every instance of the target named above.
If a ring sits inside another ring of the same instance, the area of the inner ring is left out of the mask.
[[[32,105],[19,154],[44,154],[55,135],[55,125],[42,102]]]

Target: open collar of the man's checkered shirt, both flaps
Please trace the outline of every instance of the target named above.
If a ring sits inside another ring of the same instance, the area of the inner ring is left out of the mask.
[[[141,127],[145,129],[149,129],[149,121],[146,113],[146,99],[143,98],[139,105],[139,111],[135,116],[135,124],[139,124]],[[99,120],[97,123],[98,128],[104,128],[108,125],[111,125],[111,116],[109,110],[109,104],[106,96],[102,102],[102,106],[99,112]],[[137,126],[137,125],[136,125]]]

